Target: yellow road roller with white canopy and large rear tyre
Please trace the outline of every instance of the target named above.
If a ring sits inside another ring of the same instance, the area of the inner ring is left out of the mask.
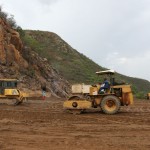
[[[109,77],[109,89],[99,93],[98,84],[74,84],[72,95],[63,104],[65,110],[73,114],[80,114],[87,109],[100,107],[105,114],[111,115],[117,113],[121,106],[133,104],[131,86],[115,84],[114,70],[99,71],[96,74]]]

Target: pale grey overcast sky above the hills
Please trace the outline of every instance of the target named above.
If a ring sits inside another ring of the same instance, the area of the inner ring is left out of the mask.
[[[23,29],[51,31],[97,64],[150,81],[150,0],[0,0]]]

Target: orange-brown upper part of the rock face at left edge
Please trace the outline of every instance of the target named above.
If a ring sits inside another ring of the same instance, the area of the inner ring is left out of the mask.
[[[28,63],[19,52],[22,47],[18,32],[0,19],[0,64],[11,66],[12,63],[17,63],[27,68]]]

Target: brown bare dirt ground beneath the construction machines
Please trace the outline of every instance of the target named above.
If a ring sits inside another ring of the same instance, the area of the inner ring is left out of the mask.
[[[116,115],[66,113],[62,99],[0,104],[0,150],[149,150],[150,101]]]

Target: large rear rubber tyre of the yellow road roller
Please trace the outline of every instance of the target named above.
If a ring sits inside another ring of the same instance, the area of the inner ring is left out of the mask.
[[[113,95],[105,96],[100,104],[102,111],[109,115],[116,114],[120,109],[120,105],[119,98]]]

